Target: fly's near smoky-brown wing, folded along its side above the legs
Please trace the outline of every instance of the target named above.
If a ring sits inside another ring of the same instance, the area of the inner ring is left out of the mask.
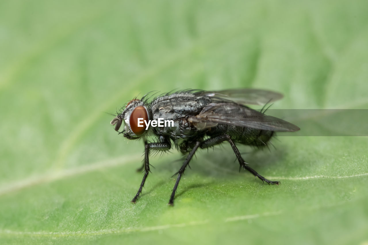
[[[208,104],[197,116],[189,117],[188,121],[198,129],[215,127],[217,124],[277,132],[293,132],[300,129],[280,118],[266,116],[249,107],[231,102]]]

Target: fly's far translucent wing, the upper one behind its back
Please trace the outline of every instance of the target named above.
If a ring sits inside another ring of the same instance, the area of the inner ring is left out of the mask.
[[[239,104],[256,104],[260,106],[275,102],[283,97],[281,93],[262,89],[226,89],[219,91],[200,91],[194,94],[209,97],[213,96],[214,98],[231,100]]]

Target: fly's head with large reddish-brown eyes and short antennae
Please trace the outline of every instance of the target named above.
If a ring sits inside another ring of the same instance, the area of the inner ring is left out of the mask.
[[[127,104],[125,109],[110,124],[115,125],[115,130],[119,132],[121,124],[124,123],[124,129],[120,134],[123,134],[127,139],[138,139],[146,133],[144,121],[148,122],[151,119],[150,117],[147,106],[141,100],[134,99]],[[141,122],[139,125],[138,119]]]

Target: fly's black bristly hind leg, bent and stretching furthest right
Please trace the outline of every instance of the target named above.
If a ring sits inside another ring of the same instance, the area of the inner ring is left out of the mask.
[[[235,153],[235,155],[236,155],[236,157],[239,161],[240,167],[243,167],[244,170],[250,171],[255,177],[258,177],[262,181],[266,181],[268,184],[278,185],[280,183],[279,181],[271,181],[271,180],[266,179],[262,175],[258,174],[253,168],[247,166],[247,164],[245,164],[243,158],[241,157],[238,148],[235,146],[235,144],[234,144],[233,140],[231,139],[231,137],[227,134],[223,134],[223,135],[219,135],[219,136],[209,138],[208,140],[204,141],[201,144],[201,148],[208,148],[208,147],[217,145],[219,143],[222,143],[223,141],[229,141],[229,143],[231,145],[231,148],[233,148],[233,151],[234,151],[234,153]]]

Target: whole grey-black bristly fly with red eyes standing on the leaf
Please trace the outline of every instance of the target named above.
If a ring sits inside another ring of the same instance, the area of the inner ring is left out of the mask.
[[[274,132],[298,131],[300,128],[282,119],[266,116],[244,104],[265,105],[281,99],[280,93],[261,89],[229,89],[221,91],[181,90],[157,96],[149,102],[149,94],[141,99],[131,100],[122,107],[110,124],[127,139],[143,139],[144,176],[137,194],[131,202],[135,203],[150,171],[148,160],[152,151],[167,151],[174,145],[180,152],[188,153],[183,165],[177,171],[177,179],[169,199],[174,204],[174,196],[180,178],[198,148],[209,148],[224,141],[230,143],[240,168],[250,171],[255,177],[268,184],[270,181],[249,167],[243,160],[236,143],[266,146]],[[267,110],[267,109],[266,109]],[[153,123],[156,120],[156,123]],[[157,123],[167,121],[168,124]],[[144,122],[144,123],[143,123]],[[156,142],[148,142],[148,137]],[[174,176],[173,175],[173,176]]]

